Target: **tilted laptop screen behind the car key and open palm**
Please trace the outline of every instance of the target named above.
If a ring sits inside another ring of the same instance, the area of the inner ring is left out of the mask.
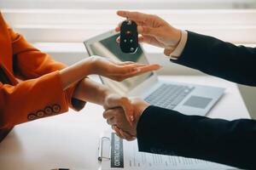
[[[85,46],[90,55],[108,57],[114,61],[134,61],[137,63],[148,64],[148,60],[140,46],[137,48],[137,52],[135,54],[125,54],[120,50],[119,44],[116,42],[117,37],[119,37],[119,33],[104,37],[100,40],[96,38],[97,40],[95,42],[92,38],[90,39],[90,43],[85,42]],[[137,87],[138,84],[142,83],[153,75],[153,72],[147,72],[137,77],[125,79],[123,82],[115,82],[106,77],[101,77],[101,79],[102,82],[109,88],[118,93],[126,94],[131,89]]]

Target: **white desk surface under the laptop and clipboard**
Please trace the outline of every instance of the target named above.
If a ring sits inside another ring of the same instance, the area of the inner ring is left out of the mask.
[[[207,116],[228,120],[250,118],[235,83],[203,76],[160,78],[226,88],[222,99]],[[0,144],[0,169],[98,169],[99,136],[109,129],[102,111],[101,106],[88,103],[79,113],[69,111],[16,126]]]

